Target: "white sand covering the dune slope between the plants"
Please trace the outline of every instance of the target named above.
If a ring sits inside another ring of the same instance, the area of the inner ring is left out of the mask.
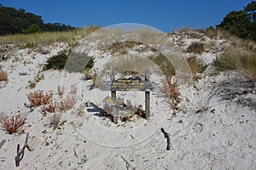
[[[183,38],[183,48],[192,41],[199,41],[172,35],[176,42],[181,42],[180,38]],[[81,74],[67,73],[62,80],[62,71],[43,71],[44,80],[38,82],[34,89],[26,88],[28,82],[33,81],[38,71],[42,70],[46,59],[67,48],[67,44],[55,43],[47,48],[49,54],[16,49],[9,60],[0,63],[9,78],[6,86],[0,88],[1,117],[20,113],[26,116],[24,128],[30,134],[28,142],[34,149],[26,150],[20,167],[15,167],[16,146],[23,146],[26,134],[10,135],[0,130],[0,142],[6,140],[0,149],[0,169],[125,169],[121,156],[136,169],[256,168],[255,87],[242,83],[247,79],[241,73],[222,73],[211,77],[202,75],[199,82],[181,84],[179,88],[183,100],[176,117],[172,116],[164,94],[157,91],[151,93],[153,116],[149,121],[136,118],[134,122],[119,121],[115,125],[108,118],[97,116],[97,112],[84,109],[83,116],[77,114],[77,108],[83,102],[90,100],[102,107],[102,99],[110,94],[98,88],[89,90],[91,82],[81,81]],[[90,56],[96,58],[95,68],[98,70],[111,59],[108,53],[97,49],[90,51]],[[199,57],[210,63],[217,56],[217,52],[209,51]],[[18,61],[13,63],[15,58]],[[20,72],[27,75],[20,76]],[[160,84],[160,75],[151,73],[151,81]],[[228,82],[232,83],[224,88]],[[73,110],[55,113],[61,116],[62,123],[59,126],[61,129],[53,130],[49,124],[54,114],[43,116],[40,108],[30,112],[24,103],[29,103],[26,94],[37,89],[51,91],[58,99],[56,89],[61,83],[65,88],[77,84],[79,99]],[[243,90],[247,93],[239,94]],[[223,99],[226,91],[233,92],[233,99]],[[143,92],[117,94],[144,108]],[[238,100],[243,105],[239,105]],[[171,134],[171,150],[166,150],[161,127]]]

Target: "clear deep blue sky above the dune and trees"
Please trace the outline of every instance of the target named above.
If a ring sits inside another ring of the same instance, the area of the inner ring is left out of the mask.
[[[110,26],[139,23],[160,31],[218,25],[232,10],[251,0],[0,0],[3,6],[24,8],[45,23],[71,26]]]

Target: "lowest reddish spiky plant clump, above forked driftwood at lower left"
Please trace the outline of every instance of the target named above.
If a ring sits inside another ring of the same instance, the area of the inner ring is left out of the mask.
[[[20,128],[25,124],[26,118],[21,116],[11,116],[3,119],[2,125],[4,129],[9,133],[22,133],[23,130]]]

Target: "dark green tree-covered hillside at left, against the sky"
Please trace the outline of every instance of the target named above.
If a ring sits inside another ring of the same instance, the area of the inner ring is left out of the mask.
[[[75,27],[61,23],[44,23],[42,17],[27,13],[25,9],[3,7],[0,4],[0,36],[41,31],[71,31]]]

